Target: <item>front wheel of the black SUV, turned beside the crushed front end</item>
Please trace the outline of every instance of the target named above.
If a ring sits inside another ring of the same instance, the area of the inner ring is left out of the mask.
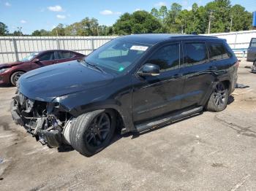
[[[90,157],[108,146],[116,128],[116,115],[111,110],[82,114],[72,121],[70,144],[80,154]]]

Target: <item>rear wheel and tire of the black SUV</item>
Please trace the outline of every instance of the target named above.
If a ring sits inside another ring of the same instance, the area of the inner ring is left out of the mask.
[[[221,112],[227,107],[228,90],[224,83],[219,82],[208,100],[206,109],[210,112]]]

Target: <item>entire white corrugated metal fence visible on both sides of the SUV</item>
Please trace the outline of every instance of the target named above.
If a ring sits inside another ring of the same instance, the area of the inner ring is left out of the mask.
[[[235,49],[236,55],[246,56],[246,48],[249,47],[251,38],[256,37],[256,30],[209,35],[227,39],[227,43],[230,44],[230,47]],[[0,63],[18,61],[31,52],[42,50],[74,50],[88,55],[92,50],[116,37],[117,36],[0,36]]]

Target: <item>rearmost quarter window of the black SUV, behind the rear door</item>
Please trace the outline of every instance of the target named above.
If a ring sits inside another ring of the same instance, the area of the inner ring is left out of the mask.
[[[220,44],[220,43],[208,44],[208,50],[209,50],[210,61],[220,61],[223,59],[230,58],[223,44]]]

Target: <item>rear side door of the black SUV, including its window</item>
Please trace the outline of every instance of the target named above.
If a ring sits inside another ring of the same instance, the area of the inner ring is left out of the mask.
[[[183,42],[184,64],[181,72],[185,77],[181,108],[199,106],[214,81],[214,66],[208,61],[206,42]]]

